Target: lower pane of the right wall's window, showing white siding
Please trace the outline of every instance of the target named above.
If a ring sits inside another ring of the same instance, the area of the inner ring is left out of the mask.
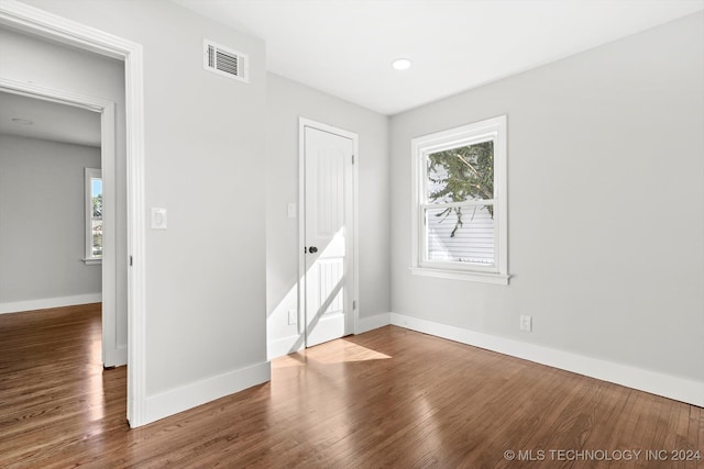
[[[494,264],[494,208],[426,209],[428,260]]]

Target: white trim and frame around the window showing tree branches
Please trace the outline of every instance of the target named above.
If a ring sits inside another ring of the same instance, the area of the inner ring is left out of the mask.
[[[424,216],[426,158],[431,153],[449,148],[485,142],[487,136],[494,139],[494,253],[495,265],[460,265],[425,260],[424,246],[426,230]],[[411,146],[411,265],[414,275],[469,280],[495,284],[508,284],[508,214],[507,214],[507,171],[506,171],[506,115],[501,115],[474,124],[462,125],[444,132],[414,138]]]

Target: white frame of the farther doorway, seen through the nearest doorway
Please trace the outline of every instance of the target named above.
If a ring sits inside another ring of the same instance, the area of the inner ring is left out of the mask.
[[[116,186],[116,104],[99,98],[76,94],[69,91],[23,83],[0,77],[0,91],[32,99],[57,102],[100,114],[100,170],[103,192],[103,241],[102,271],[102,365],[114,367],[125,365],[127,349],[118,346],[117,324],[117,186]]]

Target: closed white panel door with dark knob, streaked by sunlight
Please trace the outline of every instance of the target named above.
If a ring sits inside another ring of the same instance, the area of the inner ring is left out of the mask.
[[[352,333],[354,142],[304,130],[306,346]]]

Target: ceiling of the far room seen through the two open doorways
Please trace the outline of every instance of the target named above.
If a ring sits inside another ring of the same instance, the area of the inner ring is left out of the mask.
[[[21,124],[12,119],[32,121]],[[0,92],[0,134],[100,146],[100,114],[21,94]]]

